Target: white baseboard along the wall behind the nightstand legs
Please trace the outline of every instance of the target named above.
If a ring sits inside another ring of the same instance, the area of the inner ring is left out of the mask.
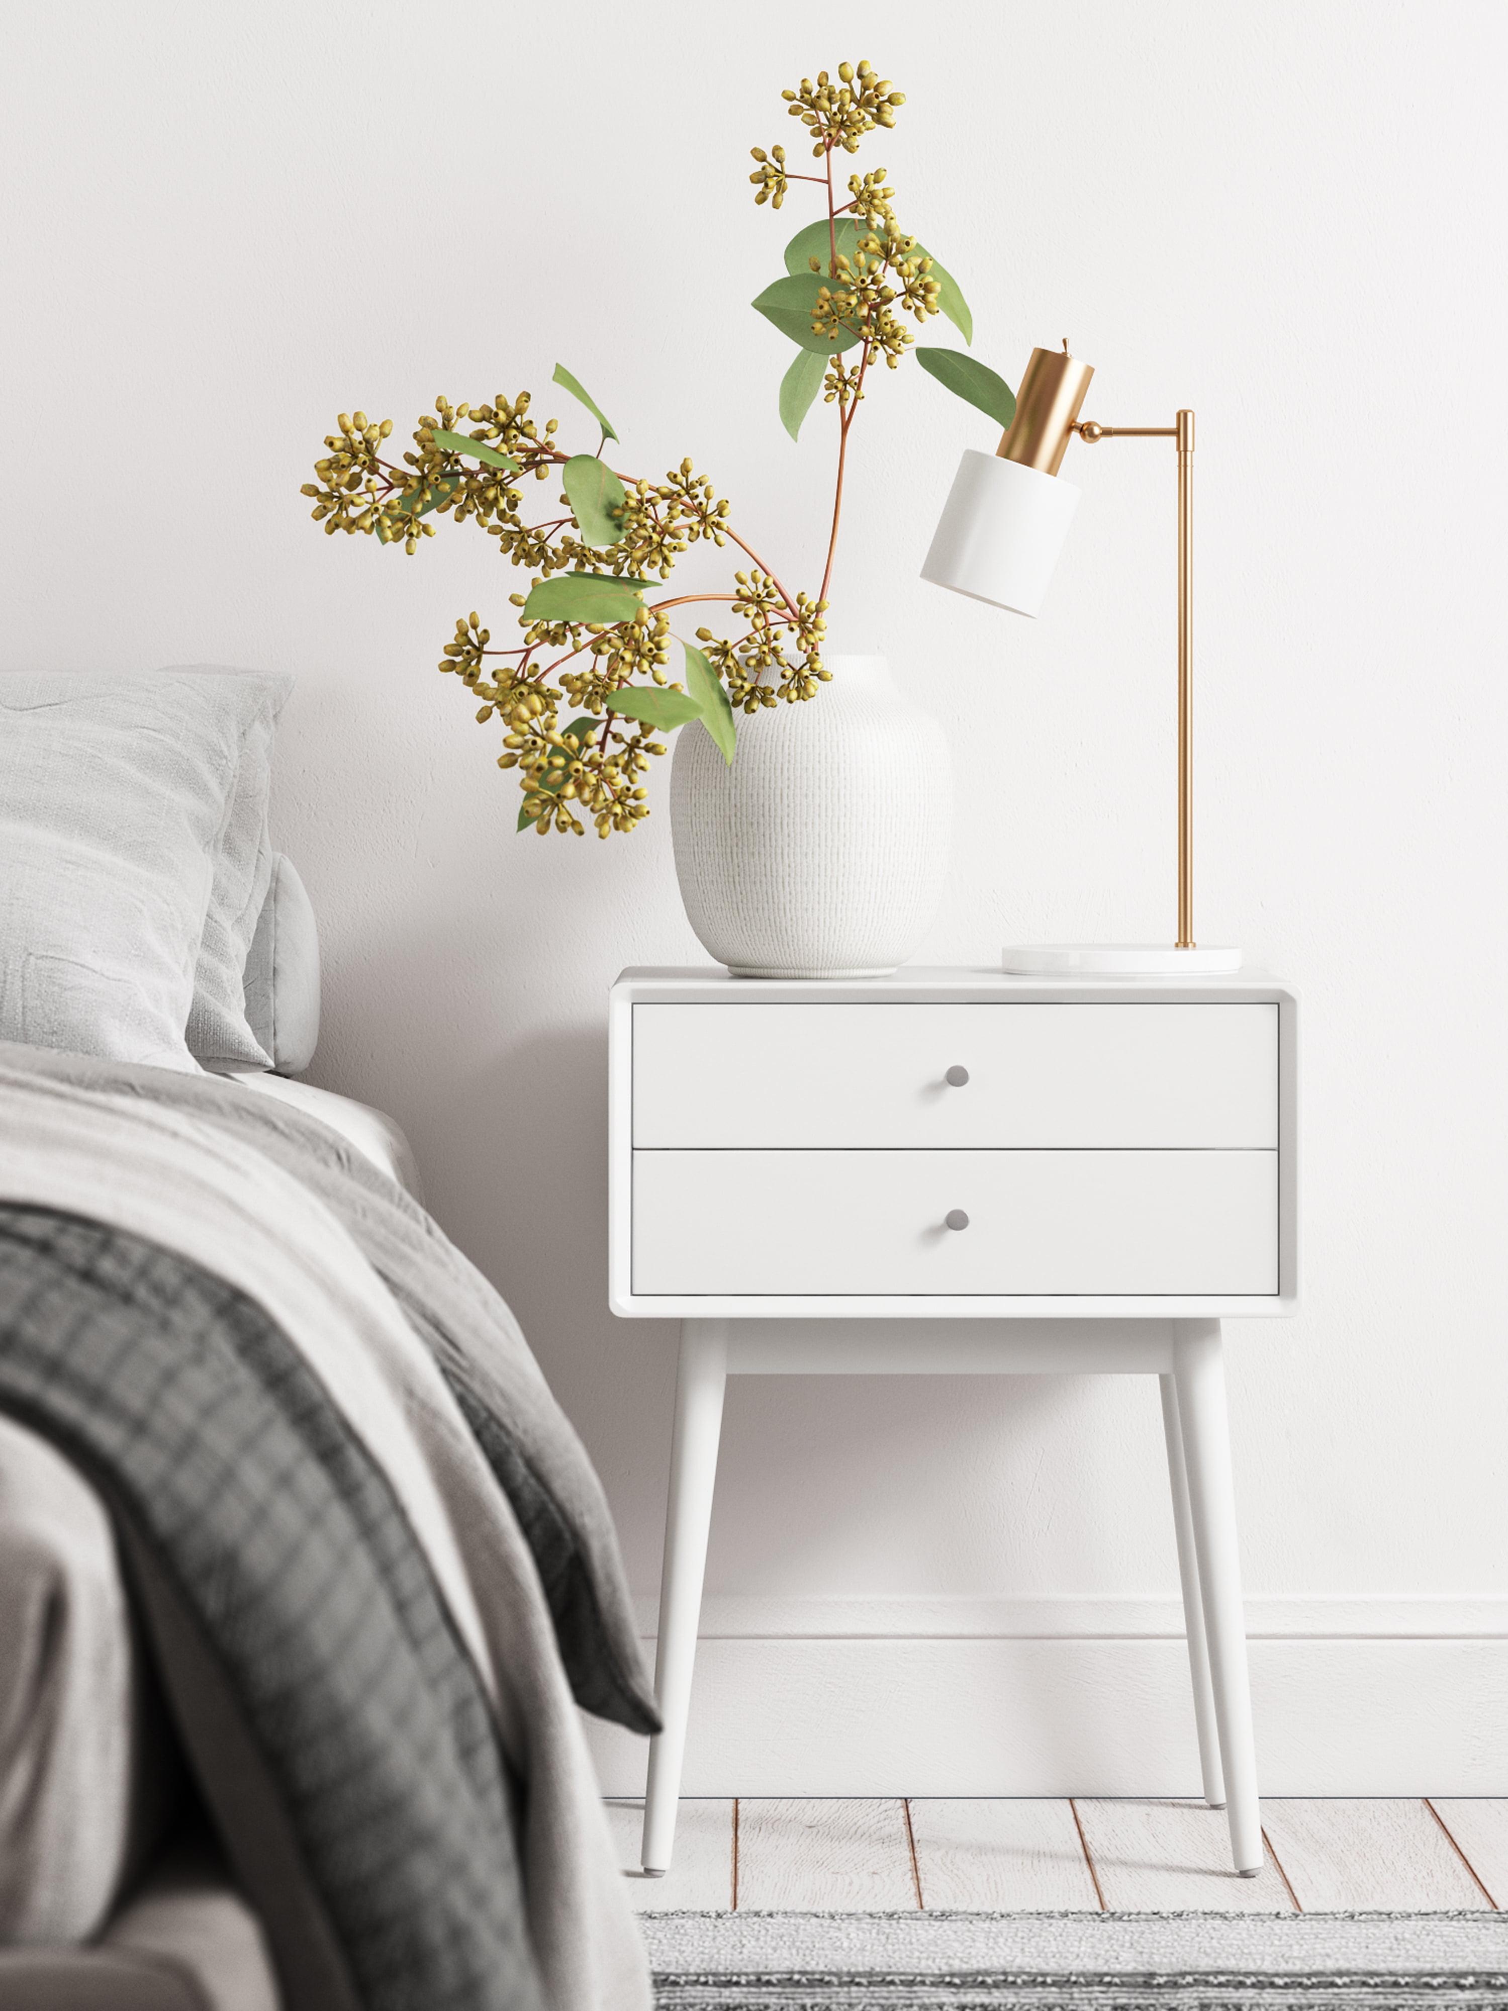
[[[1508,1601],[1247,1613],[1265,1794],[1508,1796]],[[645,1742],[589,1735],[643,1794]],[[686,1794],[1198,1794],[1178,1605],[710,1599]]]

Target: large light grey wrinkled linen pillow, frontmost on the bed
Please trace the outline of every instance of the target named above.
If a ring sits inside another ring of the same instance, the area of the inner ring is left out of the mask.
[[[249,678],[0,676],[0,1040],[197,1070],[215,851],[265,708]]]

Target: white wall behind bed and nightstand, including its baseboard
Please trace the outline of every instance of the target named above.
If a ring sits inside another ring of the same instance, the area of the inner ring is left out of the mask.
[[[1305,1313],[1231,1329],[1269,1786],[1504,1794],[1498,0],[12,6],[4,664],[298,674],[316,1078],[408,1128],[651,1595],[674,1333],[605,1309],[603,993],[700,959],[664,780],[631,841],[515,839],[434,660],[517,575],[468,527],[332,543],[298,485],[352,406],[571,416],[559,358],[623,467],[696,454],[814,583],[830,436],[780,430],[746,306],[804,211],[744,177],[844,54],[909,93],[861,163],[979,354],[1070,336],[1104,420],[1198,410],[1200,921],[1307,1003]],[[836,573],[953,736],[931,963],[1172,919],[1170,454],[1084,452],[1033,625],[917,579],[989,430],[877,384]],[[736,1386],[692,1786],[1186,1788],[1174,1589],[1150,1386]]]

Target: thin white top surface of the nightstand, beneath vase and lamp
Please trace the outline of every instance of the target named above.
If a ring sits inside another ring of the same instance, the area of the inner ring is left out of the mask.
[[[1118,999],[1190,999],[1224,997],[1271,999],[1293,997],[1293,987],[1265,971],[1237,971],[1231,977],[1013,977],[987,965],[903,965],[887,977],[734,977],[720,963],[696,963],[684,967],[629,965],[619,971],[615,991],[635,997],[674,999],[732,999],[768,1001],[782,999],[1076,999],[1076,997],[1118,997]]]

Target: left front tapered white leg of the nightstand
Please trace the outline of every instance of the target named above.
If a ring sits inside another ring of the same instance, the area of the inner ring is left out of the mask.
[[[692,1709],[696,1629],[708,1565],[712,1484],[718,1474],[722,1394],[728,1382],[728,1323],[682,1321],[676,1374],[676,1432],[670,1446],[666,1561],[659,1579],[659,1639],[655,1643],[655,1703],[664,1729],[649,1740],[649,1786],[643,1802],[643,1870],[670,1870],[676,1810],[686,1760],[686,1719]]]

